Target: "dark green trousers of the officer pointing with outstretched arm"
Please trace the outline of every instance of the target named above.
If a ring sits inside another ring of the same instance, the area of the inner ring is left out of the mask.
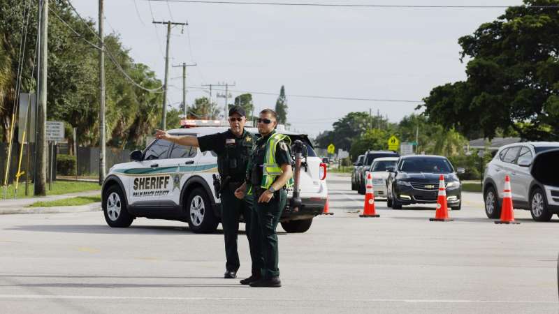
[[[228,271],[237,271],[240,267],[239,253],[237,250],[237,234],[239,231],[239,218],[245,218],[245,234],[249,240],[250,258],[252,260],[252,274],[258,273],[262,267],[262,257],[259,251],[260,239],[256,234],[253,214],[253,197],[247,195],[245,199],[239,200],[235,197],[235,191],[224,188],[221,195],[222,203],[222,227],[225,238],[225,267]],[[256,242],[256,245],[255,245]]]

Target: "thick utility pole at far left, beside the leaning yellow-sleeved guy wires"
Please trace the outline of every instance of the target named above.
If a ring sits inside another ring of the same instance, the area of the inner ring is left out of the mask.
[[[41,41],[39,43],[39,73],[40,85],[37,104],[38,124],[36,145],[36,180],[34,182],[34,195],[46,195],[47,185],[47,146],[45,133],[47,129],[47,50],[48,50],[48,0],[42,1],[41,6]]]

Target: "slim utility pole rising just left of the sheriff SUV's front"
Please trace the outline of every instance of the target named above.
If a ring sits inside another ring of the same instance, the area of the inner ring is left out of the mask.
[[[105,38],[103,37],[103,0],[99,0],[99,185],[105,181]],[[77,156],[77,154],[76,154]]]

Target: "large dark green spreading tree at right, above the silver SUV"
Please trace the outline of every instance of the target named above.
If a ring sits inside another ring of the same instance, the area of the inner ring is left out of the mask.
[[[559,10],[544,6],[559,0],[524,0],[458,40],[467,80],[430,91],[430,121],[468,137],[559,140]]]

